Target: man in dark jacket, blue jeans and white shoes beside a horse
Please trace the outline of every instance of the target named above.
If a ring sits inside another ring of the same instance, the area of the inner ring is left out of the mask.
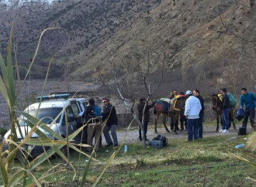
[[[222,129],[220,130],[220,132],[228,133],[228,129],[229,129],[228,111],[230,110],[230,99],[227,95],[226,87],[221,88],[220,93],[222,95],[222,105],[221,105]]]

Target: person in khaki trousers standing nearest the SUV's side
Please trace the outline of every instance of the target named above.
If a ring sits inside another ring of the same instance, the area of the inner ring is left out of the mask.
[[[95,100],[90,98],[88,106],[85,110],[85,120],[88,124],[87,128],[87,143],[92,146],[93,136],[95,137],[95,151],[99,151],[99,138],[102,131],[100,114],[101,108],[95,105]],[[87,148],[88,151],[92,151],[92,147]]]

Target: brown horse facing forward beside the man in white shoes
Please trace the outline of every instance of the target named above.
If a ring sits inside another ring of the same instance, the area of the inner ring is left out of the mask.
[[[220,124],[222,124],[222,119],[221,119],[221,114],[222,114],[221,105],[222,105],[222,101],[220,100],[218,95],[214,93],[212,98],[211,98],[211,102],[212,102],[211,108],[215,111],[216,120],[217,120],[216,131],[219,131],[219,122],[220,122]],[[233,110],[234,110],[233,108],[230,108],[230,110],[228,112],[228,121],[229,121],[229,126],[231,127],[231,121],[232,121],[234,129],[236,129],[236,124],[234,123]]]

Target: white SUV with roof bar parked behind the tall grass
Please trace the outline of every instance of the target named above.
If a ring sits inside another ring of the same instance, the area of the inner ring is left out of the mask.
[[[72,134],[83,124],[81,114],[85,110],[86,105],[88,104],[86,98],[67,98],[68,94],[60,94],[60,95],[51,95],[47,97],[43,97],[43,101],[41,104],[39,102],[35,104],[29,105],[24,112],[29,113],[33,117],[36,117],[37,111],[38,119],[43,118],[44,124],[49,124],[50,128],[54,130],[57,134],[61,134],[62,137],[66,136],[66,127],[65,127],[65,117],[64,117],[64,108],[67,114],[67,125],[68,125],[68,134]],[[36,97],[36,99],[40,100],[40,97]],[[40,105],[40,108],[38,109]],[[59,117],[58,114],[61,115]],[[51,124],[51,122],[57,117],[56,123]],[[26,124],[26,118],[23,115],[19,116],[19,125],[22,130],[22,135],[19,133],[19,129],[16,126],[16,132],[18,136],[18,141],[22,139],[22,137],[26,136],[26,132],[30,131],[29,126]],[[40,131],[43,129],[40,128]],[[53,138],[49,133],[43,131],[48,138]],[[11,134],[11,130],[9,130],[5,136],[3,141],[5,141],[9,134]],[[31,138],[38,138],[36,133],[33,133]],[[80,142],[81,134],[74,138],[74,143]],[[8,145],[5,144],[3,151],[8,149]],[[31,147],[31,146],[30,146]],[[43,148],[41,146],[35,146],[33,150],[31,150],[30,155],[36,156],[40,155],[43,152]]]

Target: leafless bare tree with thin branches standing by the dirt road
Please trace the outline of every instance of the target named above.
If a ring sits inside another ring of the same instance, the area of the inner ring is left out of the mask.
[[[154,43],[154,39],[142,39],[140,45],[133,46],[130,53],[112,55],[106,63],[109,70],[98,74],[98,83],[123,100],[123,104],[140,125],[144,148],[146,147],[144,137],[145,109],[164,77],[164,61],[155,51]],[[137,87],[141,86],[144,87],[143,93],[147,98],[142,121],[139,120],[134,110],[135,99],[138,94],[136,90]]]

